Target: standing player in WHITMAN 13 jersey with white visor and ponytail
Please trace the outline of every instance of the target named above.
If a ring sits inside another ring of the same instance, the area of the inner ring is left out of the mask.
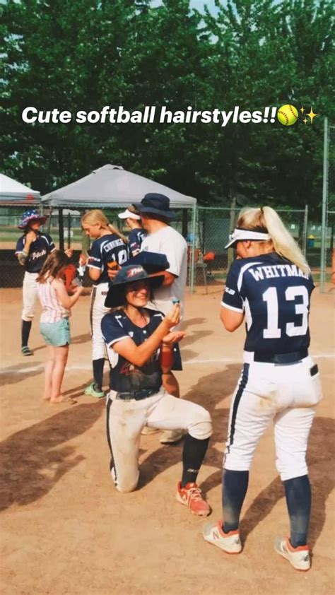
[[[284,484],[290,537],[275,550],[297,570],[309,570],[307,531],[311,492],[307,440],[322,397],[317,365],[308,355],[310,269],[298,245],[270,207],[240,214],[228,247],[237,259],[221,302],[225,329],[245,320],[244,366],[230,408],[223,471],[223,521],[204,538],[227,553],[240,553],[240,512],[257,444],[274,422],[276,467]]]

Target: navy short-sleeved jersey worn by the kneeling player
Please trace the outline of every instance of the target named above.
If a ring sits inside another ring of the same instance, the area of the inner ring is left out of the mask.
[[[164,318],[162,312],[146,310],[150,320],[143,329],[131,322],[122,310],[106,314],[101,321],[102,336],[107,343],[107,353],[113,343],[131,337],[137,346],[141,345],[153,334]],[[128,360],[117,355],[117,363],[110,374],[110,389],[117,392],[134,392],[143,389],[159,391],[162,385],[162,370],[160,368],[160,349],[142,366],[136,367]],[[112,360],[112,358],[111,358]],[[113,362],[114,364],[114,362]]]

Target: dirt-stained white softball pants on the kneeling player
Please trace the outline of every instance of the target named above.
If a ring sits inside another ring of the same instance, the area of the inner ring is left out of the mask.
[[[107,440],[112,452],[112,478],[119,492],[131,492],[139,481],[139,444],[145,425],[160,430],[184,429],[198,440],[212,433],[208,411],[167,394],[161,387],[141,401],[123,401],[116,392],[107,395]]]

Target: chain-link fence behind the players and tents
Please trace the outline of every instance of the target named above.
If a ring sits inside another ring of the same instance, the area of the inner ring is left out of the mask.
[[[18,264],[15,256],[16,241],[20,235],[17,228],[24,207],[8,211],[0,207],[0,287],[18,288],[23,283],[23,267]],[[120,223],[117,213],[121,208],[103,209],[107,218],[114,225]],[[82,247],[89,247],[88,238],[81,230],[81,215],[84,209],[69,211],[64,209],[64,247],[74,248],[74,262],[78,262]],[[233,250],[226,251],[225,244],[237,220],[240,208],[225,207],[196,207],[194,217],[193,208],[177,209],[177,218],[173,226],[185,237],[188,245],[188,275],[189,289],[206,291],[208,285],[223,285],[231,261]],[[316,283],[320,276],[321,263],[321,235],[320,222],[310,221],[307,206],[305,209],[278,209],[283,222],[290,233],[298,241],[302,252],[307,257]],[[331,263],[334,247],[334,219],[335,211],[327,213],[327,242],[326,242],[326,273],[327,281],[331,281]],[[59,212],[52,210],[51,216],[44,226],[56,245],[59,245]],[[194,261],[192,262],[192,254]],[[334,276],[333,276],[334,277]],[[91,285],[87,273],[84,285]]]

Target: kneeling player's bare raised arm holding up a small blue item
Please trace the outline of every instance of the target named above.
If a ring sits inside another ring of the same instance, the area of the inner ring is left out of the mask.
[[[160,325],[155,329],[153,334],[141,345],[136,343],[129,337],[117,341],[113,344],[112,349],[136,367],[142,367],[148,359],[158,349],[163,338],[170,333],[170,329],[180,322],[180,304],[175,306],[168,312]]]

